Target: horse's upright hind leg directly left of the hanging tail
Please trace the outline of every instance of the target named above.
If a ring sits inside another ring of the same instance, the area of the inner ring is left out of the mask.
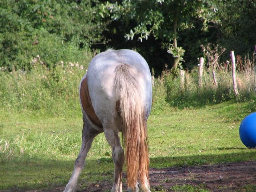
[[[111,192],[121,192],[124,153],[119,139],[119,131],[111,124],[105,124],[103,128],[106,140],[112,148],[112,156],[115,164],[114,184]]]

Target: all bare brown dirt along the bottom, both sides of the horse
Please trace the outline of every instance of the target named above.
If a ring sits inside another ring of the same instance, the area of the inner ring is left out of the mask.
[[[244,186],[250,186],[249,191],[256,191],[256,161],[232,162],[217,165],[201,165],[179,168],[150,168],[151,191],[175,191],[174,186],[190,185],[196,189],[208,191],[247,191]],[[126,175],[123,174],[123,178]],[[113,181],[104,180],[79,187],[79,192],[111,191]],[[254,187],[254,188],[253,188]],[[47,190],[29,190],[27,192],[62,192],[64,186]],[[127,189],[123,183],[123,190]],[[187,188],[178,187],[178,191],[187,191]],[[196,190],[197,191],[197,190]]]

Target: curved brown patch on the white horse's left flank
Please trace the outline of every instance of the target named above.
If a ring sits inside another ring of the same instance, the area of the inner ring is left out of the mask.
[[[87,77],[83,79],[81,82],[81,88],[80,88],[80,99],[82,107],[89,117],[90,121],[95,124],[97,127],[103,128],[102,123],[100,122],[99,118],[95,114],[94,108],[91,104],[91,98],[89,95],[88,85],[87,85]]]

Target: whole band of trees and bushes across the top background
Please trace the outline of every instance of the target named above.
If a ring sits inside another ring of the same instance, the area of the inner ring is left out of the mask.
[[[40,55],[51,67],[113,47],[139,51],[157,74],[192,69],[202,44],[252,52],[255,15],[254,0],[0,1],[0,66],[29,69]]]

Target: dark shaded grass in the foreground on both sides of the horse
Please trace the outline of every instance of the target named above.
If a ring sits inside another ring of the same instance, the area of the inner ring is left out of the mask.
[[[18,192],[24,190],[51,191],[56,186],[62,186],[60,191],[63,190],[70,178],[75,161],[75,159],[56,160],[35,156],[22,156],[9,160],[2,159],[1,157],[0,190]],[[150,167],[155,168],[242,162],[256,160],[256,150],[250,149],[248,151],[244,149],[240,152],[218,155],[198,154],[192,156],[156,157],[150,160]],[[89,159],[80,178],[88,184],[96,183],[99,180],[112,179],[113,172],[114,165],[110,158],[103,158],[103,160]]]

